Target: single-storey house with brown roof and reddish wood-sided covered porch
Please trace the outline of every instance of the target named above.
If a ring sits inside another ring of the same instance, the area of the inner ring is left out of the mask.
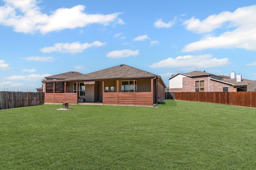
[[[161,76],[125,64],[44,83],[45,103],[154,106],[165,99],[166,91]]]

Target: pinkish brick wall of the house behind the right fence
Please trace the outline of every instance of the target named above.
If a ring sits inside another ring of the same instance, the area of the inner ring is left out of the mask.
[[[233,88],[233,86],[228,85],[228,84],[224,84],[224,83],[220,83],[220,82],[216,82],[214,80],[210,80],[210,78],[208,76],[200,76],[200,77],[183,77],[183,83],[182,83],[182,88],[170,88],[170,91],[172,92],[195,92],[196,88],[195,88],[195,84],[196,81],[204,81],[204,91],[205,92],[222,92],[224,87],[228,88],[228,92],[233,92],[236,89]],[[209,86],[210,85],[210,86]],[[210,88],[209,88],[210,87]]]

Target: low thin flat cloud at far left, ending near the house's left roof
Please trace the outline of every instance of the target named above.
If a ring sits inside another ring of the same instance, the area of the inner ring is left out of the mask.
[[[10,76],[6,77],[6,80],[22,80],[22,81],[40,81],[45,77],[51,76],[51,74],[30,74],[28,76]]]

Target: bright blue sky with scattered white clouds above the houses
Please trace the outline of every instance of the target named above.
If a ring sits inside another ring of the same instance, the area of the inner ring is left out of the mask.
[[[256,80],[254,0],[1,0],[0,91],[127,64]]]

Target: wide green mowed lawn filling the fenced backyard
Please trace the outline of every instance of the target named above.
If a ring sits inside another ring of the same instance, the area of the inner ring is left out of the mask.
[[[256,168],[255,108],[164,102],[0,110],[0,169]]]

